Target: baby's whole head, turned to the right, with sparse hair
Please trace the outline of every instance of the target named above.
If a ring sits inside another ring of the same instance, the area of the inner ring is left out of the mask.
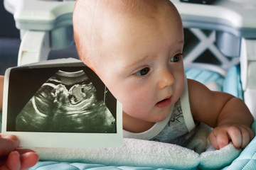
[[[166,118],[184,84],[183,27],[174,5],[168,0],[78,0],[73,24],[80,59],[124,112],[149,122]]]

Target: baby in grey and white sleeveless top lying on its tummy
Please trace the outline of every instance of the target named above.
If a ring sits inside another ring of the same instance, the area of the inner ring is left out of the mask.
[[[217,149],[230,141],[244,148],[254,137],[243,101],[186,79],[183,26],[171,1],[77,0],[73,26],[80,60],[123,105],[124,137],[186,145],[200,122],[213,128]],[[28,153],[32,166],[37,155]]]

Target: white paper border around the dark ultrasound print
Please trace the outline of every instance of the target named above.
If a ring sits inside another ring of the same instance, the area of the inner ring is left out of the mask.
[[[122,104],[117,101],[116,133],[90,133],[90,132],[20,132],[7,131],[9,74],[4,79],[4,98],[2,112],[2,137],[16,135],[23,148],[33,147],[118,147],[122,145]]]

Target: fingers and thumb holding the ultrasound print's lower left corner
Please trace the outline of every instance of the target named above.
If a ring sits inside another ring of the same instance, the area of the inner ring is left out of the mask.
[[[0,170],[28,169],[38,162],[38,154],[30,149],[16,149],[18,144],[16,136],[1,138],[0,134]]]

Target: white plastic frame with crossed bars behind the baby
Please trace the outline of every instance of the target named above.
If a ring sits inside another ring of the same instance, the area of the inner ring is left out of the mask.
[[[225,76],[240,62],[244,100],[256,118],[256,1],[225,0],[210,5],[172,2],[181,13],[186,33],[193,36],[186,39],[186,68],[210,68]],[[21,31],[18,65],[47,60],[50,50],[73,43],[74,4],[74,0],[4,0]],[[206,52],[215,57],[217,67],[195,62],[208,55]]]

